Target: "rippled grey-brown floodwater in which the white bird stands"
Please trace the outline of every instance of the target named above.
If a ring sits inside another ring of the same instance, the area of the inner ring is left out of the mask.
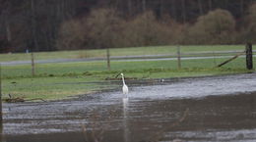
[[[68,101],[4,104],[4,139],[256,141],[255,73],[134,84],[127,81],[127,99],[120,89]]]

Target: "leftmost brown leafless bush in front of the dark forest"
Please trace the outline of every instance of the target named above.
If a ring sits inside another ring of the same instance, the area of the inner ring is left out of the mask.
[[[120,46],[123,21],[111,9],[96,9],[88,17],[61,25],[58,49],[109,48]]]

